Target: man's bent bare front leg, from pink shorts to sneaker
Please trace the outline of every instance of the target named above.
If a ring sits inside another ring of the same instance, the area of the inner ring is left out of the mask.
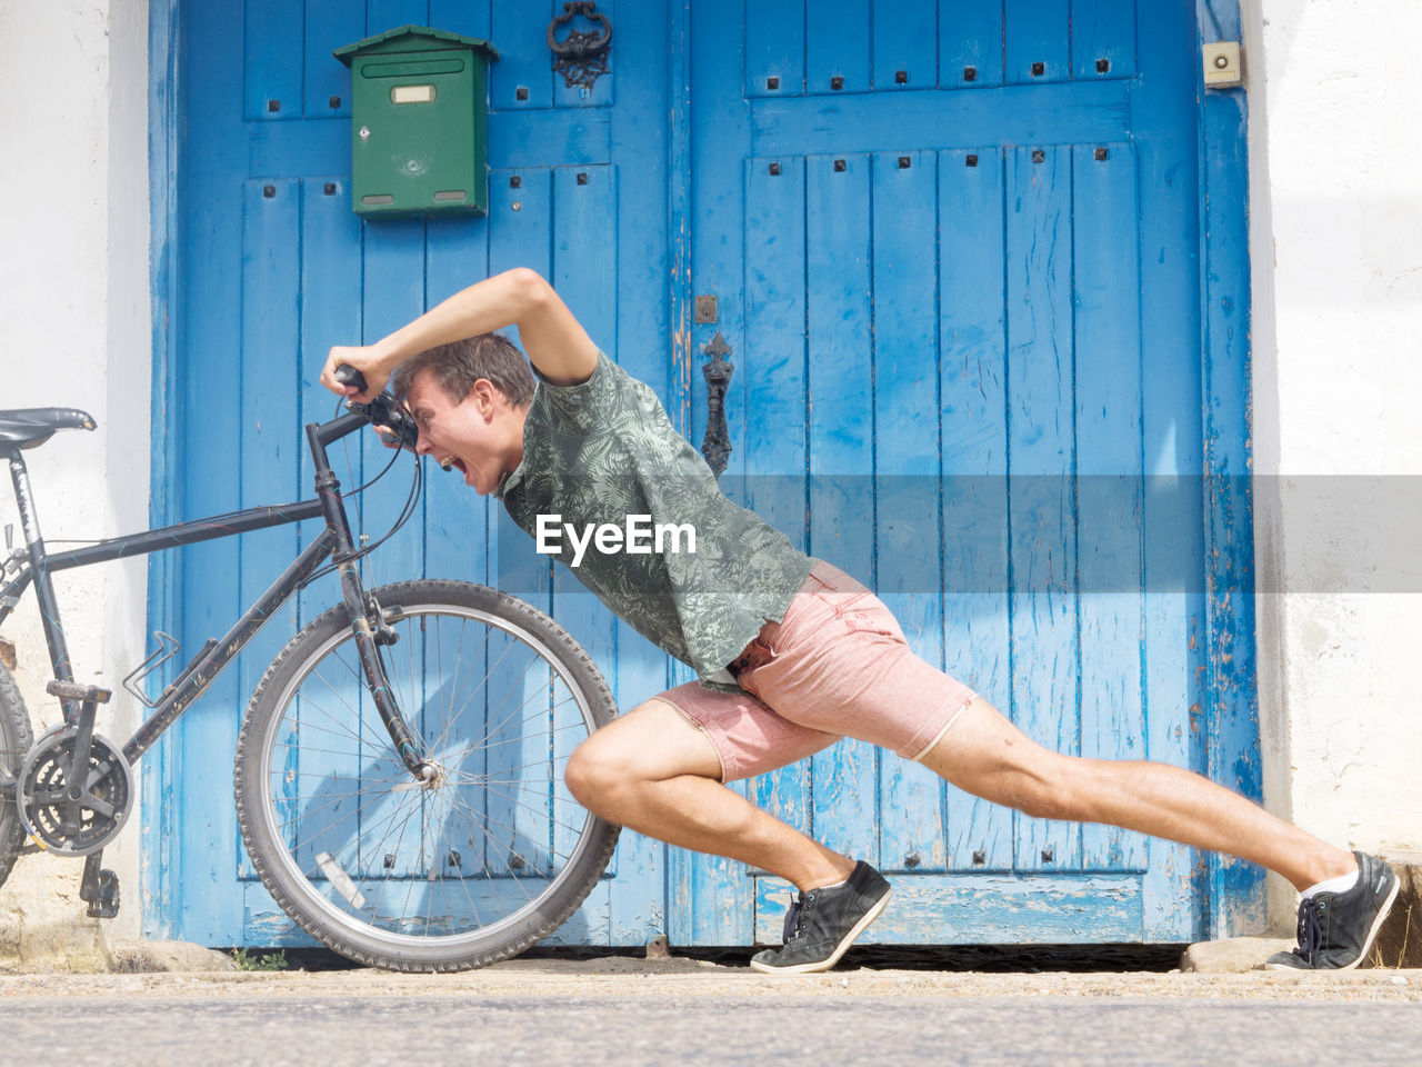
[[[798,889],[842,882],[855,861],[721,784],[707,736],[664,700],[648,700],[573,753],[567,788],[589,811],[638,834],[739,859]]]

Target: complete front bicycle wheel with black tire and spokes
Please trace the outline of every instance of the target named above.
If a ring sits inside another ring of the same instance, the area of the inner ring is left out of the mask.
[[[353,960],[445,972],[508,959],[562,926],[617,844],[562,781],[576,744],[616,714],[611,693],[562,626],[496,589],[425,579],[374,596],[398,635],[381,649],[391,690],[441,773],[422,785],[395,755],[337,605],[287,643],[247,707],[235,761],[247,854],[277,905]]]

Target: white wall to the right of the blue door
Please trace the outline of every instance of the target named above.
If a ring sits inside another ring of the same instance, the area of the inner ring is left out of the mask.
[[[1375,475],[1422,472],[1422,4],[1243,14],[1266,795],[1337,844],[1416,851],[1422,596],[1398,590],[1422,514]]]

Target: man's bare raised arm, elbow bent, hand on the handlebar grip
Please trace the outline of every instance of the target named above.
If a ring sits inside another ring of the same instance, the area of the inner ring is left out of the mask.
[[[597,346],[553,286],[538,272],[516,267],[455,293],[374,344],[333,347],[321,370],[321,384],[341,396],[351,393],[356,400],[370,400],[411,356],[505,326],[519,329],[523,351],[555,386],[586,381],[597,367]],[[365,376],[364,393],[336,380],[336,367],[343,363]]]

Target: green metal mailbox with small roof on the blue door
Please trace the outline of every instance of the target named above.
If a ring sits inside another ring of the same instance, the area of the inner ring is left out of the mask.
[[[351,68],[356,213],[485,213],[489,43],[401,26],[331,54]]]

